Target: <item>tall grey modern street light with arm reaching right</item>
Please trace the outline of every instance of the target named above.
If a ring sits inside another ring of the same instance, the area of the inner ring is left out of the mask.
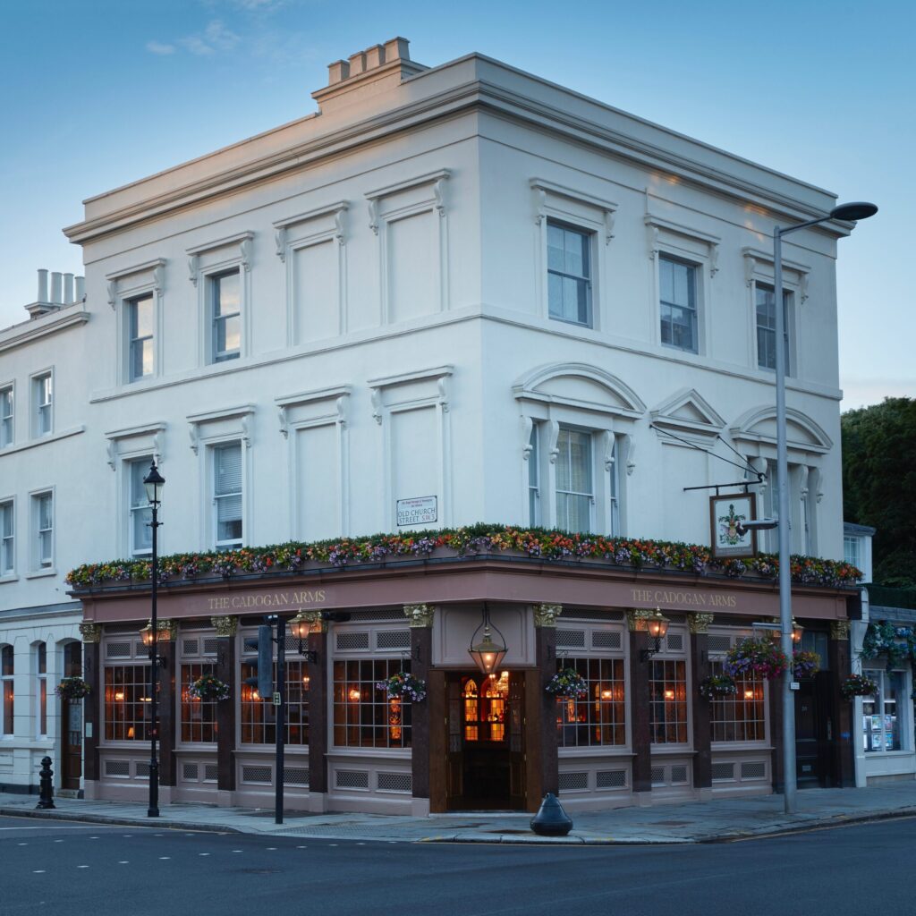
[[[844,203],[807,223],[785,229],[773,227],[773,298],[776,310],[776,475],[779,482],[780,540],[780,648],[790,660],[782,676],[782,784],[787,814],[796,811],[797,780],[795,771],[795,694],[791,690],[792,672],[792,575],[789,507],[789,450],[786,442],[786,321],[782,302],[782,236],[828,220],[855,222],[878,213],[874,203]]]

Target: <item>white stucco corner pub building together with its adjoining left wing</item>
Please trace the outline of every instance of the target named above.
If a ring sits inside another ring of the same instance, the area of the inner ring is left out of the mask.
[[[148,557],[155,459],[160,554],[188,554],[160,592],[165,801],[272,791],[272,709],[245,684],[265,606],[314,618],[311,655],[290,640],[287,656],[300,807],[532,807],[548,790],[600,807],[778,787],[767,685],[714,703],[698,692],[752,621],[778,613],[765,575],[431,545],[412,563],[382,551],[224,577],[206,554],[496,521],[708,544],[713,491],[695,487],[713,485],[749,489],[772,515],[769,239],[834,195],[477,54],[421,66],[401,38],[331,65],[313,97],[315,114],[85,202],[65,230],[85,301],[0,333],[0,404],[14,392],[0,509],[15,519],[0,783],[35,785],[36,758],[60,743],[57,704],[37,731],[34,698],[82,621],[82,784],[146,791],[148,583],[85,573],[74,604],[64,576]],[[784,249],[793,550],[835,561],[834,265],[851,228]],[[852,780],[836,689],[851,591],[829,579],[795,596],[825,669],[802,785]],[[469,671],[485,607],[507,641],[495,680]],[[671,627],[649,659],[656,607]],[[558,654],[589,684],[578,705],[544,699]],[[412,710],[374,688],[406,665],[430,685]],[[202,673],[233,699],[191,702]]]

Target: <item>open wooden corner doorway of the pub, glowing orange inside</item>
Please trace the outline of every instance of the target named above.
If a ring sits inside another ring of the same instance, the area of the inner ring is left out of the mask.
[[[524,698],[524,671],[447,676],[448,811],[525,810]]]

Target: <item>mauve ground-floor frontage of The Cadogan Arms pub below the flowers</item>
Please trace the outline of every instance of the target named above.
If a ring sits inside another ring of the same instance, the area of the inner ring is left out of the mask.
[[[256,674],[263,614],[300,611],[311,632],[304,643],[286,642],[290,809],[533,811],[552,791],[587,810],[779,787],[780,703],[769,683],[739,680],[736,697],[712,701],[698,691],[752,622],[778,615],[772,582],[485,548],[453,554],[436,548],[344,569],[308,562],[296,573],[166,579],[162,800],[270,805],[275,710],[246,680]],[[80,594],[86,676],[99,698],[86,710],[86,792],[139,800],[148,767],[148,748],[135,741],[149,736],[139,633],[148,588]],[[855,594],[801,587],[793,596],[823,661],[797,704],[802,786],[853,784],[850,705],[838,674],[849,671]],[[485,606],[507,646],[489,675],[468,652]],[[657,607],[671,622],[647,659],[645,620]],[[568,665],[588,682],[582,699],[545,691]],[[427,682],[420,703],[376,687],[402,669]],[[191,700],[188,688],[203,673],[230,683],[232,699]]]

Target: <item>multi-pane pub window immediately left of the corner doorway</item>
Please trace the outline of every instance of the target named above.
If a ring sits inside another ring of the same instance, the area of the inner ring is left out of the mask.
[[[410,747],[410,703],[389,697],[376,683],[398,671],[400,659],[334,662],[334,745],[336,747]]]

